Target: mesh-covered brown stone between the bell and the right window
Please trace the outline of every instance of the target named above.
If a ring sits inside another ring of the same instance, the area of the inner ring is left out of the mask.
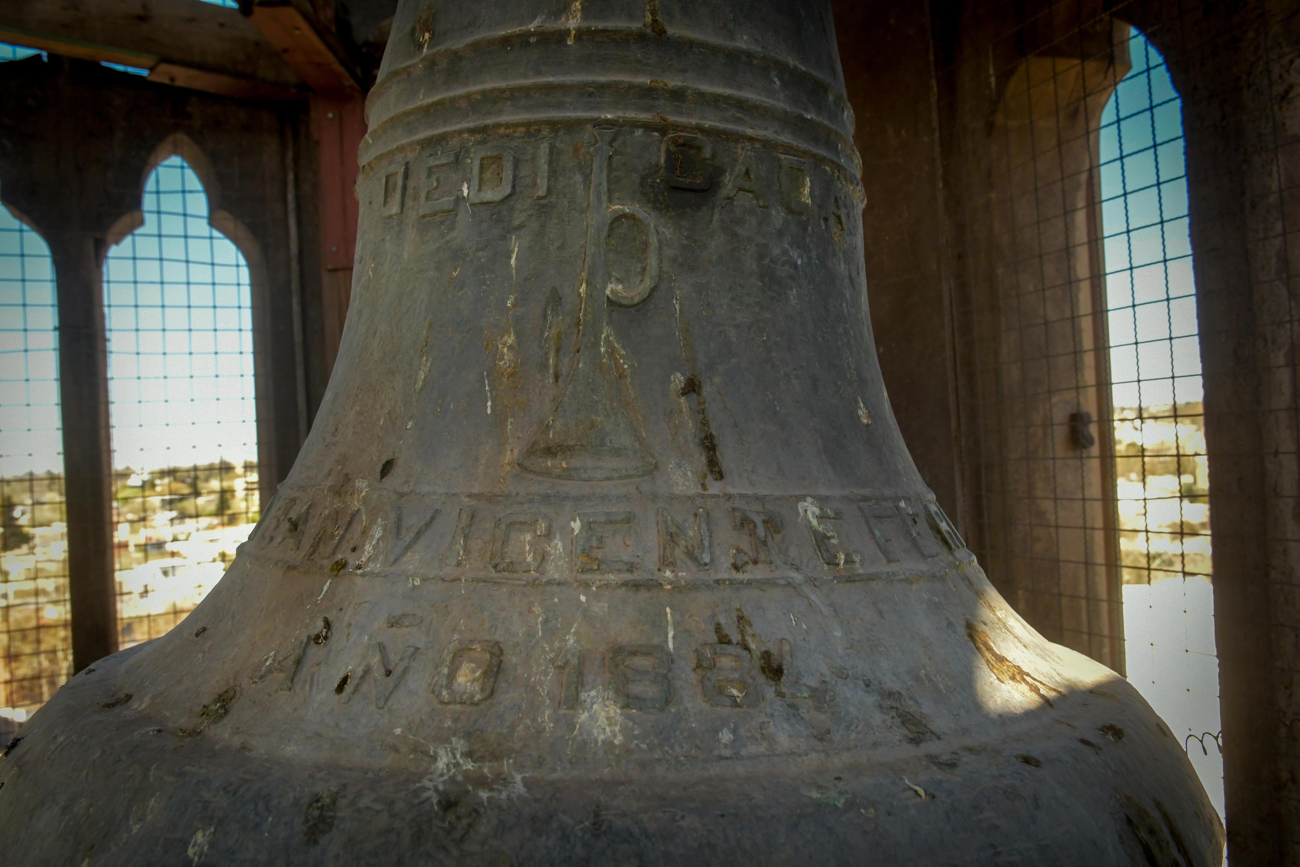
[[[1110,406],[1092,165],[1109,58],[1066,42],[991,70],[1001,101],[978,170],[994,195],[966,203],[991,261],[959,335],[978,344],[963,415],[984,443],[974,517],[991,573],[1046,637],[1122,669],[1113,472],[1093,426]]]

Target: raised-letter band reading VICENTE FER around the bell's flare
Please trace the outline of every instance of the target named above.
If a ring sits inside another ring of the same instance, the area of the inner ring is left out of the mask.
[[[569,569],[630,585],[768,581],[807,563],[841,576],[888,568],[902,577],[904,564],[923,567],[963,550],[937,506],[913,498],[766,498],[770,507],[757,508],[731,504],[727,495],[686,495],[647,504],[606,499],[602,510],[537,502],[508,511],[494,498],[455,500],[387,491],[364,500],[286,497],[251,545],[274,555],[306,552],[334,576],[400,572],[411,586],[428,578],[550,584]],[[792,520],[802,529],[786,536]]]

